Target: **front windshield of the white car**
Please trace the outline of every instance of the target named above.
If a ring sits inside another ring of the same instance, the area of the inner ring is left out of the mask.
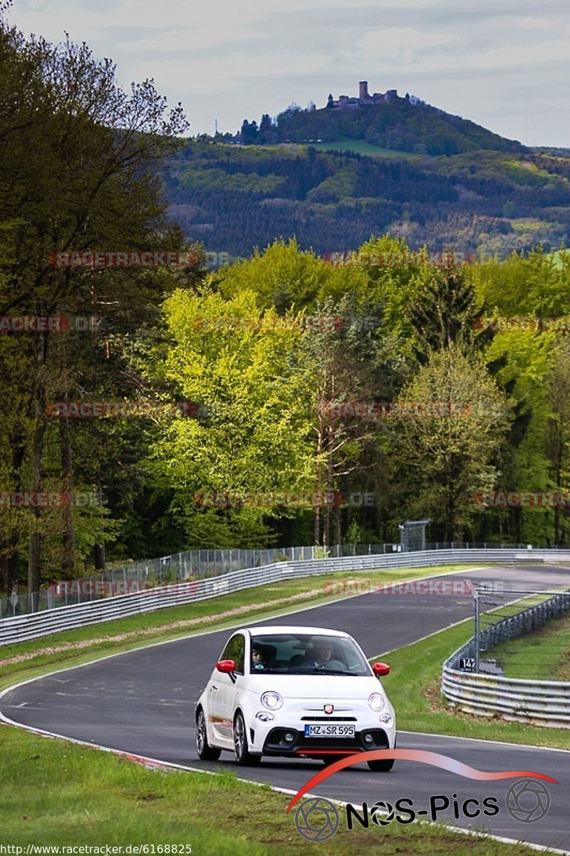
[[[313,633],[252,636],[250,671],[285,675],[370,675],[370,667],[352,639]]]

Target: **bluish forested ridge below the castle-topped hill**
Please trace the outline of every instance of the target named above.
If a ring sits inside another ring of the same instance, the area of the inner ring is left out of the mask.
[[[234,257],[276,237],[324,254],[386,231],[502,254],[560,247],[570,229],[570,158],[540,152],[385,158],[189,140],[163,180],[185,235]]]

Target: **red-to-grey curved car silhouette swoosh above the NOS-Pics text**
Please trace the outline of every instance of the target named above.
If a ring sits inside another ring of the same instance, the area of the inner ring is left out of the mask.
[[[455,758],[450,758],[448,755],[440,755],[439,752],[426,752],[424,749],[374,749],[372,752],[360,752],[358,755],[341,758],[340,761],[331,764],[325,770],[320,770],[316,776],[313,776],[309,782],[303,785],[303,788],[297,791],[287,806],[287,812],[291,811],[297,800],[300,800],[311,788],[319,785],[320,782],[324,782],[329,776],[334,776],[338,770],[344,770],[344,767],[351,767],[352,764],[362,764],[363,761],[387,761],[389,758],[431,764],[432,767],[449,770],[450,773],[465,776],[466,779],[475,779],[477,782],[494,782],[497,779],[518,779],[526,776],[530,779],[544,779],[546,782],[554,782],[555,785],[560,784],[555,779],[551,779],[550,776],[544,776],[543,773],[533,773],[532,770],[503,770],[501,773],[485,773],[483,770],[469,767],[468,764],[461,764],[461,761],[456,761]]]

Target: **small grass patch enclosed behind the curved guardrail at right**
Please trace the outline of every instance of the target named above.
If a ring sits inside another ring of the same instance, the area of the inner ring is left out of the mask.
[[[570,615],[495,645],[485,657],[497,657],[509,678],[570,681]]]

